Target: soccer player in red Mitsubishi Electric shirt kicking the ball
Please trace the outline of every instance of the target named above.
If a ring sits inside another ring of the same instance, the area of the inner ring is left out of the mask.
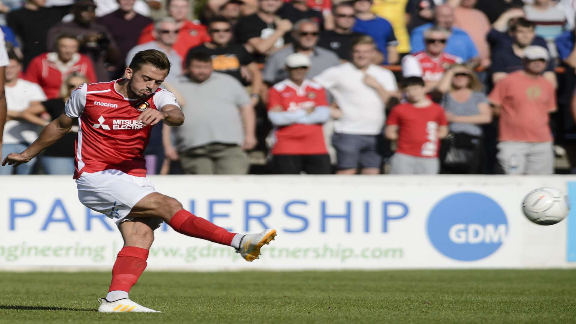
[[[126,78],[79,86],[64,113],[44,127],[32,145],[2,161],[14,167],[30,161],[66,135],[78,119],[74,172],[78,198],[112,218],[124,239],[108,295],[98,299],[99,312],[158,312],[132,302],[128,292],[146,269],[153,231],[162,221],[184,235],[232,246],[247,261],[259,258],[260,248],[276,236],[274,229],[243,236],[230,233],[157,193],[146,179],[143,153],[151,126],[184,122],[176,97],[158,88],[169,71],[170,61],[163,52],[138,52],[126,68]]]

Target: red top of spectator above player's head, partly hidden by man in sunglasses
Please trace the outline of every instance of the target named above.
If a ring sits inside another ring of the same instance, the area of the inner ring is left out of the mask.
[[[151,42],[154,39],[152,36],[152,31],[154,30],[154,24],[147,25],[138,39],[138,44],[143,44]],[[206,42],[210,42],[210,36],[208,35],[208,29],[206,26],[194,21],[184,21],[184,24],[178,32],[178,39],[176,43],[172,45],[172,48],[180,55],[182,60],[186,58],[188,50],[192,47],[196,47]]]

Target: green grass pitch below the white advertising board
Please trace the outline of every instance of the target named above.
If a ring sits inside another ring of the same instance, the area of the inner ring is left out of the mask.
[[[145,272],[100,314],[111,274],[0,273],[0,323],[576,323],[576,270]]]

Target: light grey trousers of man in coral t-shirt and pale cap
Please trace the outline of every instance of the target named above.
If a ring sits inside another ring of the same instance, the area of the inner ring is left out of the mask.
[[[504,141],[497,148],[496,157],[505,174],[554,174],[552,142]]]

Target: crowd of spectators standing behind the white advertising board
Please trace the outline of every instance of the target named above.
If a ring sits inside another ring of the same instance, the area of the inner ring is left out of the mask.
[[[2,155],[153,48],[185,123],[149,174],[576,173],[574,3],[0,0]],[[72,174],[77,131],[0,174]]]

